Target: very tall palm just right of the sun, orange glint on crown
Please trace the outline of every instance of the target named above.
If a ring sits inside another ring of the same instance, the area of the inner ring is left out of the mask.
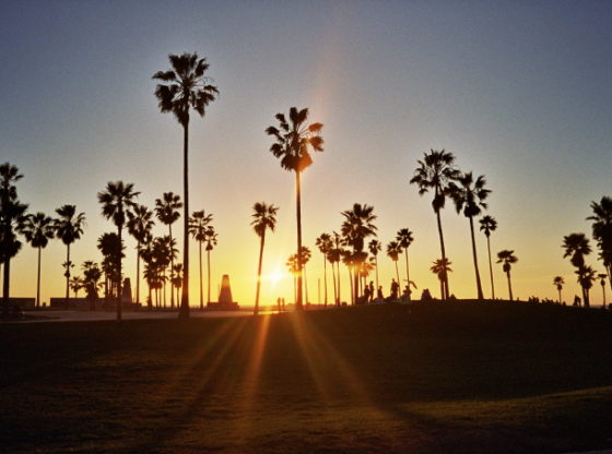
[[[297,263],[302,263],[302,172],[313,164],[309,148],[315,152],[323,151],[323,139],[320,135],[322,123],[306,124],[308,109],[297,110],[292,107],[289,111],[289,122],[283,113],[276,113],[279,128],[268,127],[266,133],[276,141],[270,146],[274,157],[281,159],[281,167],[295,171],[296,189],[296,219],[297,219]],[[302,306],[302,270],[297,274],[296,309]]]

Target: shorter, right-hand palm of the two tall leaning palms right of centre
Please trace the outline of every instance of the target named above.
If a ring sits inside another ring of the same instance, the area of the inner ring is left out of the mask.
[[[484,203],[484,200],[489,196],[491,191],[484,188],[486,184],[486,180],[484,179],[484,176],[481,175],[474,181],[471,171],[459,176],[457,178],[457,182],[459,184],[455,184],[455,182],[450,182],[448,187],[448,191],[450,196],[452,198],[452,201],[455,202],[455,207],[457,208],[457,213],[460,213],[461,210],[463,210],[463,216],[470,219],[470,235],[472,237],[472,258],[474,260],[474,271],[476,275],[478,299],[482,300],[484,296],[482,294],[480,272],[478,267],[476,240],[474,238],[473,218],[482,213],[481,208],[486,210],[486,203]]]

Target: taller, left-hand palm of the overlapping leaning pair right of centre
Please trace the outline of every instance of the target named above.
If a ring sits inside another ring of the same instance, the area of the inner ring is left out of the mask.
[[[419,167],[414,170],[414,176],[411,178],[410,183],[419,187],[419,195],[423,195],[429,192],[429,190],[434,191],[432,206],[434,213],[436,213],[442,258],[444,260],[446,259],[446,251],[442,231],[440,210],[444,208],[449,183],[459,177],[459,169],[455,166],[455,156],[452,153],[448,153],[444,150],[431,150],[428,154],[423,153],[423,160],[417,162]],[[445,276],[445,279],[443,299],[447,299],[450,296],[448,275]]]

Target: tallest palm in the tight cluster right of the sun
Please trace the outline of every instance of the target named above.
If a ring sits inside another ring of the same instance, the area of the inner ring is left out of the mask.
[[[367,259],[367,252],[364,252],[365,239],[376,236],[377,227],[374,225],[376,215],[374,206],[367,204],[355,203],[351,210],[341,213],[344,216],[341,232],[346,244],[353,248],[352,259],[353,265],[360,268],[361,264]],[[358,273],[353,273],[353,303],[358,299]]]

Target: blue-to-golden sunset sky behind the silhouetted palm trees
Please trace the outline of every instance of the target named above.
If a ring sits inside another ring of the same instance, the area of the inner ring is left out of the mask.
[[[607,1],[3,1],[0,162],[24,175],[17,191],[31,212],[75,204],[85,213],[71,256],[78,265],[99,261],[96,240],[115,230],[96,196],[108,181],[134,183],[150,207],[163,192],[183,192],[183,131],[160,112],[151,76],[169,69],[169,53],[198,52],[220,91],[203,119],[192,116],[189,151],[190,208],[212,213],[219,231],[213,300],[223,274],[240,304],[255,299],[255,202],[280,207],[264,276],[286,272],[295,251],[295,176],[280,167],[264,133],[292,106],[323,123],[325,152],[303,175],[311,302],[319,279],[323,287],[315,239],[339,230],[341,212],[356,202],[374,206],[384,244],[400,228],[414,232],[411,279],[417,295],[439,294],[429,271],[439,255],[431,196],[409,184],[432,148],[486,177],[486,214],[498,222],[492,250],[518,258],[515,297],[556,298],[552,279],[561,275],[572,300],[579,287],[563,236],[590,237],[591,201],[612,195],[611,21]],[[468,219],[450,204],[442,218],[450,290],[475,297]],[[486,241],[476,234],[489,296]],[[136,242],[126,246],[133,283]],[[195,242],[190,251],[195,304]],[[64,254],[58,240],[43,252],[43,301],[63,295]],[[603,271],[596,253],[587,262]],[[36,251],[24,246],[11,267],[11,295],[35,296]],[[384,253],[379,274],[388,292],[395,267]],[[506,297],[499,264],[494,282]],[[293,280],[264,279],[261,291],[263,303],[292,301]],[[596,285],[592,302],[601,299]]]

